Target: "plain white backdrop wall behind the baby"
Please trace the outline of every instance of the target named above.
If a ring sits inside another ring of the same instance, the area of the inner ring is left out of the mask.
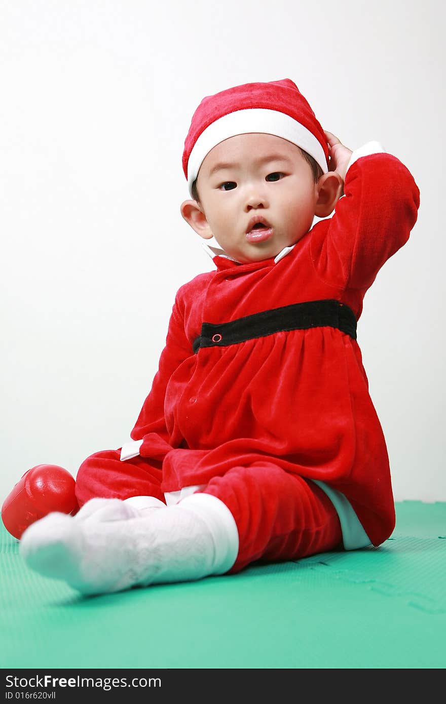
[[[358,341],[396,500],[446,501],[444,26],[432,0],[1,0],[1,501],[129,439],[175,291],[213,269],[180,215],[192,113],[282,78],[419,185]]]

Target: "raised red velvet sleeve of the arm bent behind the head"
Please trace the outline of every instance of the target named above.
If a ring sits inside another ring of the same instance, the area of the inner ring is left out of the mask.
[[[320,275],[342,288],[368,289],[385,261],[407,242],[418,215],[414,177],[379,148],[371,142],[352,153],[345,195],[333,217],[318,223],[325,225],[323,237],[313,239]]]

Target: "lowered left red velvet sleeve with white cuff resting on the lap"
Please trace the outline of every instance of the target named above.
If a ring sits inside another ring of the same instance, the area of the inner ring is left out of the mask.
[[[184,306],[178,291],[169,320],[166,344],[159,358],[158,371],[130,433],[132,441],[123,445],[121,460],[130,459],[138,454],[146,455],[144,446],[151,457],[161,458],[171,449],[168,446],[170,433],[166,427],[164,414],[166,387],[173,372],[192,353],[192,344],[185,333]]]

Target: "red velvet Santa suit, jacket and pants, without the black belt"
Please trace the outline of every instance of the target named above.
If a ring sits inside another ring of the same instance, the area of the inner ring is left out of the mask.
[[[108,451],[85,460],[80,504],[94,496],[163,499],[198,486],[235,518],[240,550],[232,571],[342,546],[333,496],[354,510],[368,543],[387,539],[395,526],[388,453],[354,336],[322,325],[193,346],[203,323],[306,301],[339,301],[358,319],[418,207],[407,168],[395,156],[371,154],[347,170],[333,217],[277,262],[216,256],[216,271],[175,298],[159,371],[131,433],[142,440],[140,455],[120,461],[119,451]],[[325,532],[316,535],[322,523]]]

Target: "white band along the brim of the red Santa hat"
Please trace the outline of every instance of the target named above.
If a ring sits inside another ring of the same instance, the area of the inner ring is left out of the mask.
[[[206,154],[225,139],[235,137],[235,134],[248,134],[249,132],[275,134],[276,137],[287,139],[288,142],[297,144],[315,158],[324,173],[328,171],[326,155],[321,143],[295,118],[266,108],[236,110],[211,122],[211,125],[206,127],[206,130],[200,134],[195,142],[187,162],[187,187],[191,196],[192,183],[197,178]]]

